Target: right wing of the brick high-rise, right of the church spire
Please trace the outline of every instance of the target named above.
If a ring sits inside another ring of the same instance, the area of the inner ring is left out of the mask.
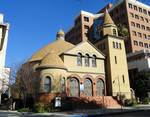
[[[138,0],[119,0],[109,11],[115,24],[129,30],[127,53],[150,48],[150,6]]]

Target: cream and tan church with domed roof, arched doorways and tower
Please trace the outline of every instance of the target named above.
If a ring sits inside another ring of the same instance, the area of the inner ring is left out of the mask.
[[[98,27],[100,38],[73,45],[59,30],[56,40],[27,61],[36,72],[38,100],[51,102],[56,96],[95,100],[108,106],[113,96],[131,98],[124,39],[108,11]],[[37,85],[38,85],[37,84]],[[104,101],[104,100],[103,100]]]

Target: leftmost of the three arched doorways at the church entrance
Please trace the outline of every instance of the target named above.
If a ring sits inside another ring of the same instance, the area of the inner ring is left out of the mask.
[[[71,97],[78,97],[79,92],[79,81],[76,78],[69,79],[69,95]]]

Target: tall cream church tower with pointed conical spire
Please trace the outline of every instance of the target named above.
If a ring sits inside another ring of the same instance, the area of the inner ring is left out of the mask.
[[[107,10],[98,29],[100,39],[95,45],[106,55],[107,93],[131,98],[124,39],[118,37],[117,26]]]

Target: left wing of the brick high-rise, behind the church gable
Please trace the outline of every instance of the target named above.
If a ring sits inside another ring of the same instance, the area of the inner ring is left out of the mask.
[[[92,39],[94,19],[101,14],[93,14],[81,11],[75,18],[74,26],[66,33],[65,39],[73,44]]]

